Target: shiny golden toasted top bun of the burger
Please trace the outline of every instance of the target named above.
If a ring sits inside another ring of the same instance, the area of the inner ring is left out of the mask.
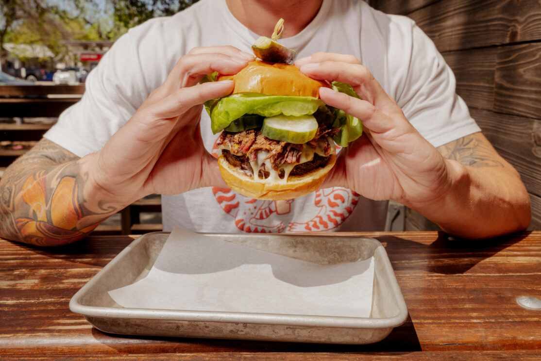
[[[233,93],[254,92],[267,95],[288,95],[319,98],[319,88],[329,86],[307,77],[295,65],[268,63],[261,60],[248,65],[235,75],[220,75],[217,80],[233,79]]]

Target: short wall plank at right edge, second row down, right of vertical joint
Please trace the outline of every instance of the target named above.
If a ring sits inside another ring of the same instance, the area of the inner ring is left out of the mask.
[[[498,48],[494,110],[541,119],[541,43]]]

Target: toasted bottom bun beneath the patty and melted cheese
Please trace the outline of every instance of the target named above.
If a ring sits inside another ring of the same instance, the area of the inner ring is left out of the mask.
[[[230,189],[246,197],[270,200],[292,199],[315,191],[325,181],[335,162],[336,156],[333,154],[329,156],[324,167],[316,168],[302,176],[289,176],[287,182],[267,182],[247,176],[222,155],[218,159],[220,173]]]

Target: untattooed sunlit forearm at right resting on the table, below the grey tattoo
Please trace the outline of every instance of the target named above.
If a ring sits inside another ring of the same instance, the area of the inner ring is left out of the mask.
[[[530,203],[518,175],[447,162],[453,177],[450,188],[431,202],[410,205],[412,209],[464,238],[489,238],[527,227]]]

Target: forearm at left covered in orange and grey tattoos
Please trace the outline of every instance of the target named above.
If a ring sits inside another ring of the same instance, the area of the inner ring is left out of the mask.
[[[52,246],[75,242],[116,209],[90,211],[78,157],[42,139],[6,169],[0,182],[0,236]]]

